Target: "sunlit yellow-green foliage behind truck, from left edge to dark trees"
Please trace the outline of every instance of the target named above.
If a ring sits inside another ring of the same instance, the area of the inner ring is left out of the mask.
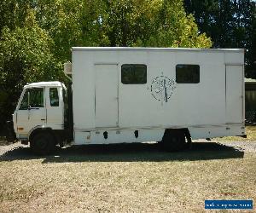
[[[62,64],[73,46],[212,45],[182,0],[2,0],[0,17],[2,122],[24,84],[65,81]]]

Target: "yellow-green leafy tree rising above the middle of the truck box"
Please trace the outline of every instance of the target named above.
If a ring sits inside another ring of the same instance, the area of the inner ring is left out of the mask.
[[[199,33],[183,2],[122,0],[109,1],[102,23],[111,46],[198,47],[212,43]]]

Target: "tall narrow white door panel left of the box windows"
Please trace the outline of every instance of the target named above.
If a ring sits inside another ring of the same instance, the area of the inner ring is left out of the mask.
[[[95,65],[96,127],[118,125],[118,66]]]

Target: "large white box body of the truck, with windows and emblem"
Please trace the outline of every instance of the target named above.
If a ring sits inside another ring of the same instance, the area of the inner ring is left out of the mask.
[[[243,49],[73,48],[72,72],[75,144],[245,134]]]

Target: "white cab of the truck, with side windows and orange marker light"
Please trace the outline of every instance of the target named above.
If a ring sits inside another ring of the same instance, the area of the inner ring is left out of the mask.
[[[26,84],[13,114],[16,138],[23,143],[30,141],[32,145],[33,139],[41,134],[54,144],[60,143],[60,135],[64,131],[66,95],[67,89],[60,82]],[[41,140],[41,146],[45,142]]]

